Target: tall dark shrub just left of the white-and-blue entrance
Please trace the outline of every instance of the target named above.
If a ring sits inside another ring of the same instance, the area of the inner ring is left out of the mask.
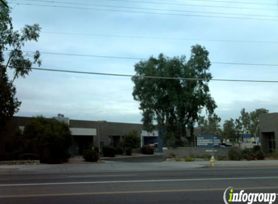
[[[131,150],[133,148],[138,148],[140,146],[140,142],[141,142],[141,139],[140,139],[140,137],[138,137],[137,131],[132,130],[131,132],[129,132],[128,134],[125,134],[123,136],[123,141],[122,141],[121,145],[125,148],[126,154],[127,154],[127,151],[130,151],[130,154],[131,154]]]

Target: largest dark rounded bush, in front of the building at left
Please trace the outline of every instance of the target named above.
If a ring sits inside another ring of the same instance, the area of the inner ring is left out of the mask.
[[[72,136],[68,125],[56,119],[33,117],[23,132],[24,153],[37,153],[42,163],[66,160]]]

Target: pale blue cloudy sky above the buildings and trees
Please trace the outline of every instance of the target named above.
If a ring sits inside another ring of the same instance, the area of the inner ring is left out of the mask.
[[[210,52],[212,62],[278,64],[278,0],[48,1],[9,0],[15,29],[34,23],[42,28],[39,41],[27,43],[24,51],[130,58],[164,53],[189,58],[191,46],[200,44]],[[134,74],[139,61],[50,54],[41,58],[42,68],[119,74]],[[215,79],[278,80],[277,69],[213,63],[210,72]],[[142,118],[129,77],[33,70],[15,85],[22,102],[16,116],[61,113],[71,119],[129,123],[140,123]],[[278,83],[211,81],[209,87],[222,122],[239,117],[242,108],[278,112]]]

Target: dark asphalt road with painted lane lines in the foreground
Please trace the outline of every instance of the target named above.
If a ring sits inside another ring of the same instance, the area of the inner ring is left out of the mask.
[[[223,204],[228,187],[278,192],[278,168],[0,175],[0,204]]]

